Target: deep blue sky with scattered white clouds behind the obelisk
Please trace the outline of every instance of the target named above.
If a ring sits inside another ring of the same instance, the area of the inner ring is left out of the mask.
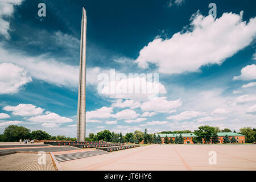
[[[46,4],[46,17],[38,4]],[[82,7],[86,135],[201,125],[256,127],[254,1],[0,2],[0,133],[9,125],[76,136]],[[99,94],[97,76],[159,73],[160,93]]]

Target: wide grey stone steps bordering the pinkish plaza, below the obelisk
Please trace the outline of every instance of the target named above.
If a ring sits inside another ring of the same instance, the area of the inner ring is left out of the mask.
[[[86,152],[59,154],[59,155],[54,155],[54,156],[55,156],[57,162],[64,162],[67,160],[87,158],[87,157],[94,156],[94,155],[101,155],[101,154],[108,154],[108,153],[109,152],[103,151],[103,150],[92,150],[92,151],[86,151]]]

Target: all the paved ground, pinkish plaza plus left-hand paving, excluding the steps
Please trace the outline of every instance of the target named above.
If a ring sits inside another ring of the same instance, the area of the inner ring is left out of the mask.
[[[126,150],[86,156],[86,151],[71,146],[1,146],[0,151],[46,151],[53,156],[73,158],[55,164],[59,170],[256,170],[256,145],[253,144],[151,144]],[[209,164],[209,152],[216,152],[216,164]],[[89,154],[89,153],[88,153]],[[67,155],[67,156],[66,156]],[[16,153],[0,156],[0,170],[55,170],[49,154],[47,164],[38,164],[38,154]],[[54,158],[54,157],[53,157]],[[78,159],[80,158],[80,159]],[[61,160],[59,160],[61,161]]]

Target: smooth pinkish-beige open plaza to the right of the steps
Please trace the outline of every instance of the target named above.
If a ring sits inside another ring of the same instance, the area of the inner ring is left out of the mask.
[[[209,164],[216,151],[217,164]],[[253,144],[154,144],[60,162],[63,170],[256,170]]]

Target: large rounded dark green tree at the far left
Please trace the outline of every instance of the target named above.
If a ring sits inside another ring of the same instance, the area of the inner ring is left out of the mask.
[[[30,130],[26,127],[10,125],[5,128],[3,137],[6,142],[18,142],[19,139],[30,138]]]

